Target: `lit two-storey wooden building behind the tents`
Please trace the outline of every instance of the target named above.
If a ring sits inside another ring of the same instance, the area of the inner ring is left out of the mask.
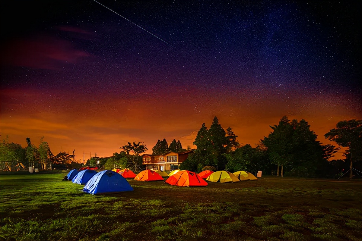
[[[178,166],[186,160],[192,152],[193,150],[180,153],[168,151],[163,155],[143,154],[142,164],[146,165],[146,169],[153,168],[154,170],[173,171],[178,169]]]

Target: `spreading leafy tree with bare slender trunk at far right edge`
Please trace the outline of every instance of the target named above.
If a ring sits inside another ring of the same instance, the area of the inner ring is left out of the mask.
[[[336,128],[329,130],[324,137],[340,146],[348,147],[345,155],[350,160],[349,178],[352,178],[353,162],[362,160],[362,120],[340,121]]]

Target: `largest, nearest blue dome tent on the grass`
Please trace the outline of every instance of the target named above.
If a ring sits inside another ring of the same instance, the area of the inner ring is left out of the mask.
[[[85,184],[83,191],[90,194],[133,191],[126,178],[117,172],[105,170],[98,172]]]

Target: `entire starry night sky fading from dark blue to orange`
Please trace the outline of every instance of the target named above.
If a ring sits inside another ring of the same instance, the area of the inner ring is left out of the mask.
[[[24,147],[44,136],[82,160],[129,141],[194,148],[214,116],[255,146],[283,115],[330,143],[362,118],[361,1],[0,4],[1,138]]]

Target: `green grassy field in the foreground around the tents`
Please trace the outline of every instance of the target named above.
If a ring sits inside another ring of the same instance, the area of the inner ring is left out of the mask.
[[[362,240],[362,183],[262,177],[90,195],[63,173],[0,176],[1,240]]]

